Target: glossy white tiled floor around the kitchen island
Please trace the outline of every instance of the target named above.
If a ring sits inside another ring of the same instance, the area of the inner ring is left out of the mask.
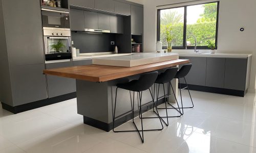
[[[162,131],[145,132],[144,144],[137,133],[106,133],[84,125],[76,99],[16,115],[0,109],[0,152],[256,152],[255,94],[191,95],[195,108],[170,118]],[[158,119],[144,120],[145,129],[159,126]],[[133,124],[121,129],[133,129]]]

